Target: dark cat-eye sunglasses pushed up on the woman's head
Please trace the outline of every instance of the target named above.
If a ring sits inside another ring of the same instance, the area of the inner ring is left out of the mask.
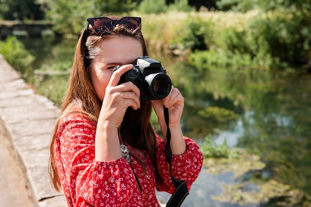
[[[90,24],[97,33],[108,33],[108,31],[112,31],[117,24],[123,25],[129,29],[139,29],[141,30],[141,17],[122,17],[121,19],[111,19],[109,17],[94,17],[87,19],[88,24]],[[87,27],[88,28],[88,24]]]

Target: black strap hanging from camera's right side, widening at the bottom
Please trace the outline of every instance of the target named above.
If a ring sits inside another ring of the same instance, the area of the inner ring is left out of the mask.
[[[189,191],[186,185],[186,181],[176,179],[171,172],[171,161],[172,161],[172,151],[170,149],[170,130],[168,127],[169,123],[169,115],[168,115],[168,108],[164,106],[164,118],[165,123],[167,125],[166,131],[166,144],[165,144],[165,158],[167,168],[175,188],[174,193],[171,195],[170,199],[168,200],[166,207],[180,207],[182,202],[185,200],[186,196],[189,195]]]

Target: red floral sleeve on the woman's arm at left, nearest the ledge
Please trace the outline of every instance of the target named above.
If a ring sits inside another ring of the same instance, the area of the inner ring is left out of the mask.
[[[57,137],[63,169],[59,174],[73,204],[125,207],[141,203],[134,174],[124,158],[94,160],[96,124],[81,116],[66,119]]]

